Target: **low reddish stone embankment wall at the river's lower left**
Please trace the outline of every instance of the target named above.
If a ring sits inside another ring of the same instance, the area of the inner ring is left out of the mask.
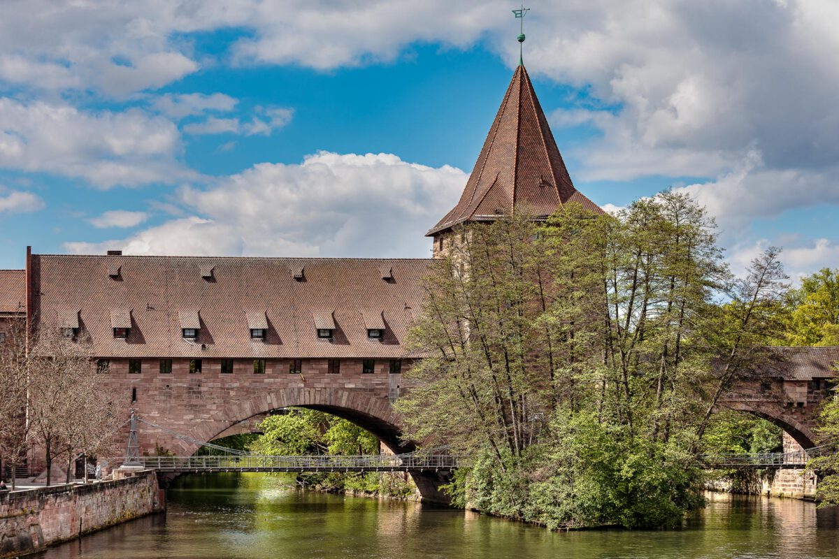
[[[163,509],[163,493],[151,471],[97,484],[0,494],[0,559],[43,551]]]

